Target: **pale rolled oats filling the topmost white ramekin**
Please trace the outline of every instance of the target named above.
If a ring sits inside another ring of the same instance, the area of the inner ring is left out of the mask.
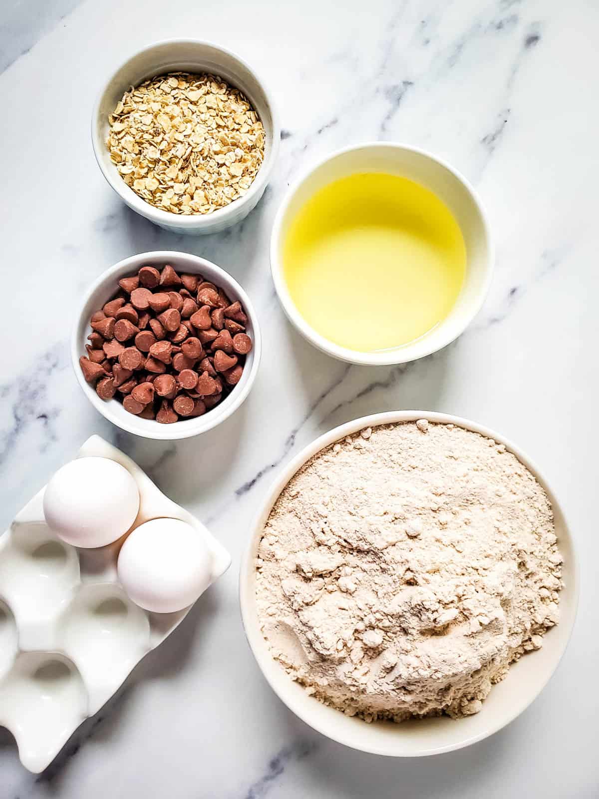
[[[264,160],[256,110],[216,75],[173,73],[125,92],[106,146],[125,183],[171,213],[212,213],[243,197]]]

